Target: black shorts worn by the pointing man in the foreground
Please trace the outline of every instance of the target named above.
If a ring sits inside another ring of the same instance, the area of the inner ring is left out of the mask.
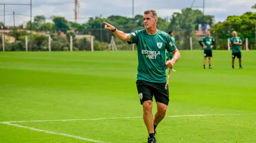
[[[141,100],[141,105],[144,101],[153,101],[153,96],[156,102],[169,103],[169,87],[165,89],[166,83],[152,83],[143,80],[136,81],[138,96]]]

